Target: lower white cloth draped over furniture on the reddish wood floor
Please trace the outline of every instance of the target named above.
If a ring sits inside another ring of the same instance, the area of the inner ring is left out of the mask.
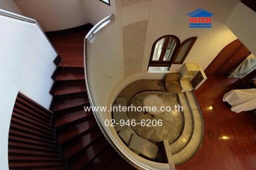
[[[231,111],[239,113],[256,109],[256,89],[231,90],[223,98],[223,102],[229,103]]]

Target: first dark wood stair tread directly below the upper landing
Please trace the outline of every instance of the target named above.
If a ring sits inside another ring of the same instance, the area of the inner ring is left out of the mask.
[[[84,80],[84,70],[83,68],[63,67],[59,70],[59,73],[57,74],[55,80]]]

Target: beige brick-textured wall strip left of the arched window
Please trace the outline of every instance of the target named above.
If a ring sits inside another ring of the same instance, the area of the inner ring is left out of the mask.
[[[124,75],[141,70],[151,0],[121,0]]]

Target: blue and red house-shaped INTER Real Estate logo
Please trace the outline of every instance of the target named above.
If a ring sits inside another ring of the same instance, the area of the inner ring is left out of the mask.
[[[187,13],[189,15],[189,28],[211,28],[212,13],[199,8],[195,11]]]

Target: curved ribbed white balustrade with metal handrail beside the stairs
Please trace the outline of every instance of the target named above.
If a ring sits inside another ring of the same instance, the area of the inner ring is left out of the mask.
[[[130,81],[140,77],[131,78],[128,81],[123,79],[123,63],[118,49],[116,29],[112,14],[98,22],[84,38],[85,82],[91,106],[109,107],[114,101],[113,94],[116,94],[116,86],[125,87]],[[130,164],[143,170],[169,169],[168,164],[152,162],[134,154],[123,144],[113,127],[105,127],[104,120],[111,119],[110,112],[97,111],[93,114],[109,143]]]

